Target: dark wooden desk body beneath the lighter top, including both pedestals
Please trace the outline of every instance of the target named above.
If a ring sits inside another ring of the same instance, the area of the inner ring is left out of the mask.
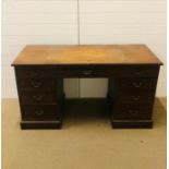
[[[107,77],[109,118],[113,128],[152,128],[159,65],[17,65],[15,76],[22,129],[61,129],[63,79]],[[67,116],[67,112],[65,112]],[[65,117],[64,116],[64,117]]]

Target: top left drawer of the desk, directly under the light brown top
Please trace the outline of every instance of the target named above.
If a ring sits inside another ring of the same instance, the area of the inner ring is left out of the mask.
[[[55,70],[52,68],[45,67],[25,67],[15,68],[17,79],[50,79],[56,77]]]

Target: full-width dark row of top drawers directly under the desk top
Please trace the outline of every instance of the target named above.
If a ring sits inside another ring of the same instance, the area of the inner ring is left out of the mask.
[[[106,77],[120,75],[124,77],[157,77],[158,65],[121,65],[121,67],[79,67],[79,68],[55,68],[55,67],[25,67],[15,68],[17,79],[56,79],[64,77]]]

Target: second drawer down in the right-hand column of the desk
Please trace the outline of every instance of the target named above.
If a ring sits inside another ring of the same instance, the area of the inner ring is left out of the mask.
[[[120,90],[155,90],[157,79],[121,79]]]

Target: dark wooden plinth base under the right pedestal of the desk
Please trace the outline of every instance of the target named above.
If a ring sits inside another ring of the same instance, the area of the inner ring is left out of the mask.
[[[111,122],[111,125],[114,129],[150,129],[153,128],[153,121],[152,120],[145,120],[145,121],[113,120]]]

